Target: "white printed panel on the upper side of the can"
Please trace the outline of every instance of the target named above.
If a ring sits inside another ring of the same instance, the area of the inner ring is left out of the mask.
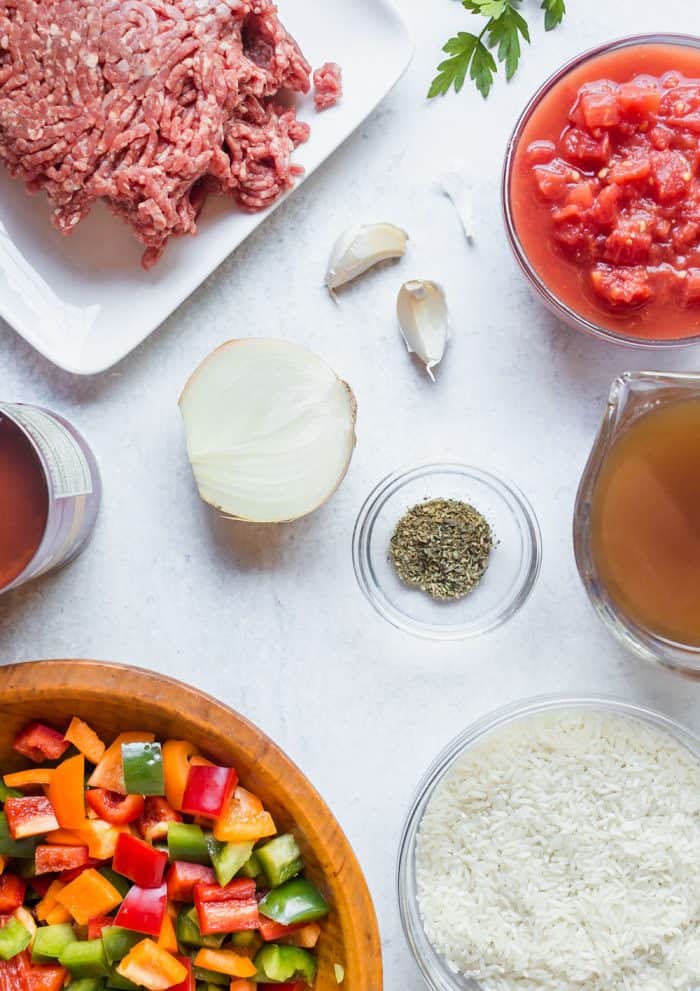
[[[10,417],[27,432],[44,458],[55,499],[70,499],[90,495],[92,475],[90,466],[78,442],[63,424],[36,406],[15,406],[0,403],[0,413]]]

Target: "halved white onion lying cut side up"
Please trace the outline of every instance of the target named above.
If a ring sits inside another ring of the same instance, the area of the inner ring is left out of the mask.
[[[350,386],[290,341],[229,341],[180,397],[199,494],[227,516],[280,523],[335,492],[355,446]]]

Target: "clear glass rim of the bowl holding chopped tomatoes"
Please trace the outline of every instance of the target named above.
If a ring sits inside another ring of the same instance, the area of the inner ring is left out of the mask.
[[[630,337],[629,335],[620,334],[615,330],[603,327],[592,320],[588,320],[586,317],[581,316],[581,314],[577,313],[576,310],[573,310],[570,306],[560,300],[545,285],[540,275],[530,264],[530,260],[521,244],[515,225],[515,219],[513,217],[513,211],[511,209],[510,180],[515,151],[518,147],[518,142],[523,129],[542,98],[550,91],[550,89],[552,89],[553,86],[560,82],[573,69],[582,65],[584,62],[587,62],[589,59],[598,57],[599,55],[605,55],[607,52],[615,51],[620,48],[634,47],[635,45],[664,44],[678,45],[684,48],[700,48],[700,37],[691,34],[675,33],[629,35],[624,38],[616,38],[613,41],[605,42],[602,45],[597,45],[595,48],[589,48],[585,52],[582,52],[581,54],[576,55],[565,62],[564,65],[557,69],[556,72],[552,73],[552,75],[549,76],[535,91],[533,96],[531,96],[528,100],[525,109],[518,117],[515,127],[513,128],[513,132],[508,139],[503,171],[501,173],[501,210],[505,221],[508,243],[510,244],[511,250],[515,256],[518,266],[520,267],[520,270],[524,273],[530,286],[535,290],[542,302],[552,313],[555,314],[555,316],[558,316],[561,320],[569,326],[574,327],[576,330],[581,330],[593,337],[597,337],[599,340],[613,341],[615,344],[620,344],[623,347],[646,348],[648,350],[692,347],[693,345],[700,343],[700,334],[695,334],[692,337],[671,338]]]

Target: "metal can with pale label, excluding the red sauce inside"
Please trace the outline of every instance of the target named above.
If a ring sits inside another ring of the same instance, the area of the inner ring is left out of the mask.
[[[11,566],[0,574],[2,594],[55,571],[80,553],[95,526],[102,485],[95,456],[84,437],[58,413],[40,406],[0,402],[0,429],[13,435],[14,443],[24,445],[32,459],[30,470],[35,472],[36,486],[43,485],[37,498],[45,506],[39,530],[24,557],[13,557],[14,570],[21,570],[13,573]],[[6,521],[6,527],[11,535],[12,520]]]

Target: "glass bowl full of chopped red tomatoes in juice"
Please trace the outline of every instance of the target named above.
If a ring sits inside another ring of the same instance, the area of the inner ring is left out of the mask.
[[[700,342],[700,38],[624,38],[564,65],[518,120],[502,196],[520,268],[566,323]]]

